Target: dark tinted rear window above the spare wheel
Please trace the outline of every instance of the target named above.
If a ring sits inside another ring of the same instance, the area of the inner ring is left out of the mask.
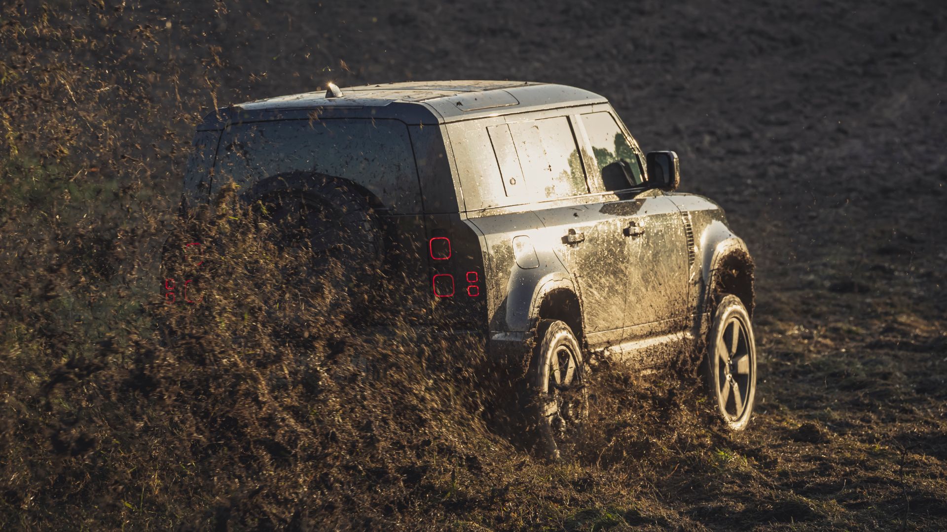
[[[279,174],[309,171],[346,179],[377,196],[392,213],[420,213],[418,169],[407,126],[399,120],[279,120],[223,132],[212,191],[252,186]]]

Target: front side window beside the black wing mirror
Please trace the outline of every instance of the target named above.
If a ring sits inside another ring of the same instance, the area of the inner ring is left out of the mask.
[[[581,120],[605,190],[641,185],[644,182],[641,164],[615,118],[602,111],[581,115]]]

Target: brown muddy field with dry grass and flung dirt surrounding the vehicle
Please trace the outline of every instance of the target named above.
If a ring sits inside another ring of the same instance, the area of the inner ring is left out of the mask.
[[[62,0],[0,28],[3,529],[947,528],[939,2]],[[757,259],[747,431],[688,368],[605,374],[586,450],[544,464],[484,424],[470,346],[349,337],[324,294],[291,319],[239,213],[173,221],[213,106],[439,79],[587,88],[678,152]],[[161,245],[199,230],[222,295],[165,309]]]

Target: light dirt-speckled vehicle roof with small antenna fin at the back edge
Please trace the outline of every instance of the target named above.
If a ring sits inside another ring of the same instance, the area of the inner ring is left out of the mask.
[[[343,87],[341,91],[337,98],[326,98],[322,90],[218,109],[206,116],[199,129],[220,128],[222,122],[306,117],[313,110],[326,117],[370,115],[428,124],[607,101],[576,87],[534,81],[405,81]]]

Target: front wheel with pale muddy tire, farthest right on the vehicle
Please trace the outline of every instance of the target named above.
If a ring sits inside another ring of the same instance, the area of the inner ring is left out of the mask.
[[[714,312],[704,374],[714,414],[730,430],[745,429],[756,400],[757,347],[750,315],[736,295],[725,295]]]

